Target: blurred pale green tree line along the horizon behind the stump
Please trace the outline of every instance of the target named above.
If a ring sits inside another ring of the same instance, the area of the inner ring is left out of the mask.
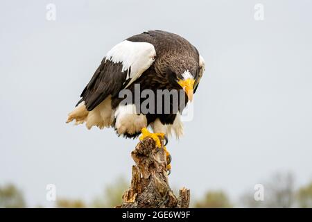
[[[263,183],[264,200],[254,200],[253,187],[239,198],[237,203],[222,190],[210,190],[200,199],[193,200],[191,207],[312,207],[312,181],[295,189],[291,173],[275,173]],[[121,204],[121,196],[128,189],[129,182],[118,178],[103,190],[103,194],[91,203],[79,199],[58,198],[55,207],[115,207]],[[27,207],[23,193],[15,185],[0,186],[0,207]]]

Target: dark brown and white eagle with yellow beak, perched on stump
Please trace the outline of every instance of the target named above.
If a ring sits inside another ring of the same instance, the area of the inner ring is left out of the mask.
[[[141,135],[141,141],[151,137],[157,146],[163,145],[170,173],[168,136],[174,133],[178,138],[183,134],[181,114],[192,101],[204,71],[205,60],[196,47],[180,35],[159,30],[133,35],[107,52],[83,89],[80,101],[68,114],[67,123],[75,120],[76,124],[85,123],[88,129],[112,127],[117,135],[124,137]],[[138,86],[142,92],[139,96],[136,95]],[[142,96],[144,90],[148,96]],[[158,94],[159,90],[169,96]],[[173,96],[173,91],[182,94]],[[125,94],[130,97],[127,103]],[[151,99],[153,94],[160,95],[160,99],[166,97],[168,103]],[[140,109],[144,104],[146,109]]]

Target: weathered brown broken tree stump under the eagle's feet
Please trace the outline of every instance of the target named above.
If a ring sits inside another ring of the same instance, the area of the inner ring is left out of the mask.
[[[117,207],[189,207],[189,189],[180,189],[176,198],[169,187],[164,148],[157,148],[154,140],[146,137],[131,155],[136,163],[132,166],[131,187],[123,194],[123,204]]]

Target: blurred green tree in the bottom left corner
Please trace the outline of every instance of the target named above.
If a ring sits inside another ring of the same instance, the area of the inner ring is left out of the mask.
[[[23,193],[15,185],[0,187],[0,208],[26,207]]]

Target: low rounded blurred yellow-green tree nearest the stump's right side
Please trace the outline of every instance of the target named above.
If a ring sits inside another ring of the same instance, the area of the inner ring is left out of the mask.
[[[229,208],[232,207],[227,194],[223,191],[208,191],[202,200],[196,201],[194,207],[198,208]]]

